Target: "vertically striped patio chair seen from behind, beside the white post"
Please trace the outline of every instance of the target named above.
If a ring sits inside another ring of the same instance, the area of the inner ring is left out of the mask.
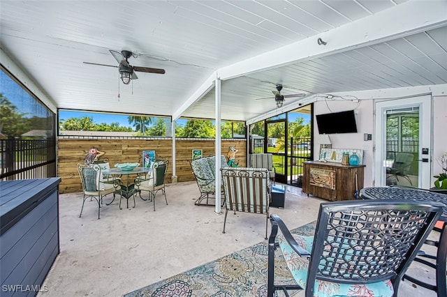
[[[265,215],[265,239],[271,201],[268,186],[268,170],[265,168],[226,167],[221,168],[223,192],[225,194],[226,211],[223,220],[225,233],[228,211],[242,213],[259,213]]]

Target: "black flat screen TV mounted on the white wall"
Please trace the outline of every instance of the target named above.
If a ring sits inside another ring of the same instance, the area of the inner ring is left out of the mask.
[[[356,115],[353,110],[317,114],[316,125],[320,134],[356,133]]]

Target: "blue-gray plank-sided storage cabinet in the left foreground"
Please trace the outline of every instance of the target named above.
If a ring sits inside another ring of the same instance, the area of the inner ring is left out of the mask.
[[[35,296],[59,254],[61,178],[0,181],[1,296]]]

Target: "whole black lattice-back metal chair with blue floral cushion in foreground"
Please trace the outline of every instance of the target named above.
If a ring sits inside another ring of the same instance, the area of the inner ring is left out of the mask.
[[[271,215],[268,296],[296,289],[305,289],[307,297],[397,296],[442,208],[404,199],[332,201],[320,205],[315,236],[292,235],[278,215]],[[274,284],[277,247],[296,284]]]

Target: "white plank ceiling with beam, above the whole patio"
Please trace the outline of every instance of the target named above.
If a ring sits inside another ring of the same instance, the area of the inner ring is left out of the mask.
[[[445,0],[0,0],[0,33],[61,109],[212,119],[219,77],[222,119],[247,121],[276,108],[277,84],[307,97],[447,84]],[[166,74],[124,85],[83,63],[117,66],[109,50]]]

